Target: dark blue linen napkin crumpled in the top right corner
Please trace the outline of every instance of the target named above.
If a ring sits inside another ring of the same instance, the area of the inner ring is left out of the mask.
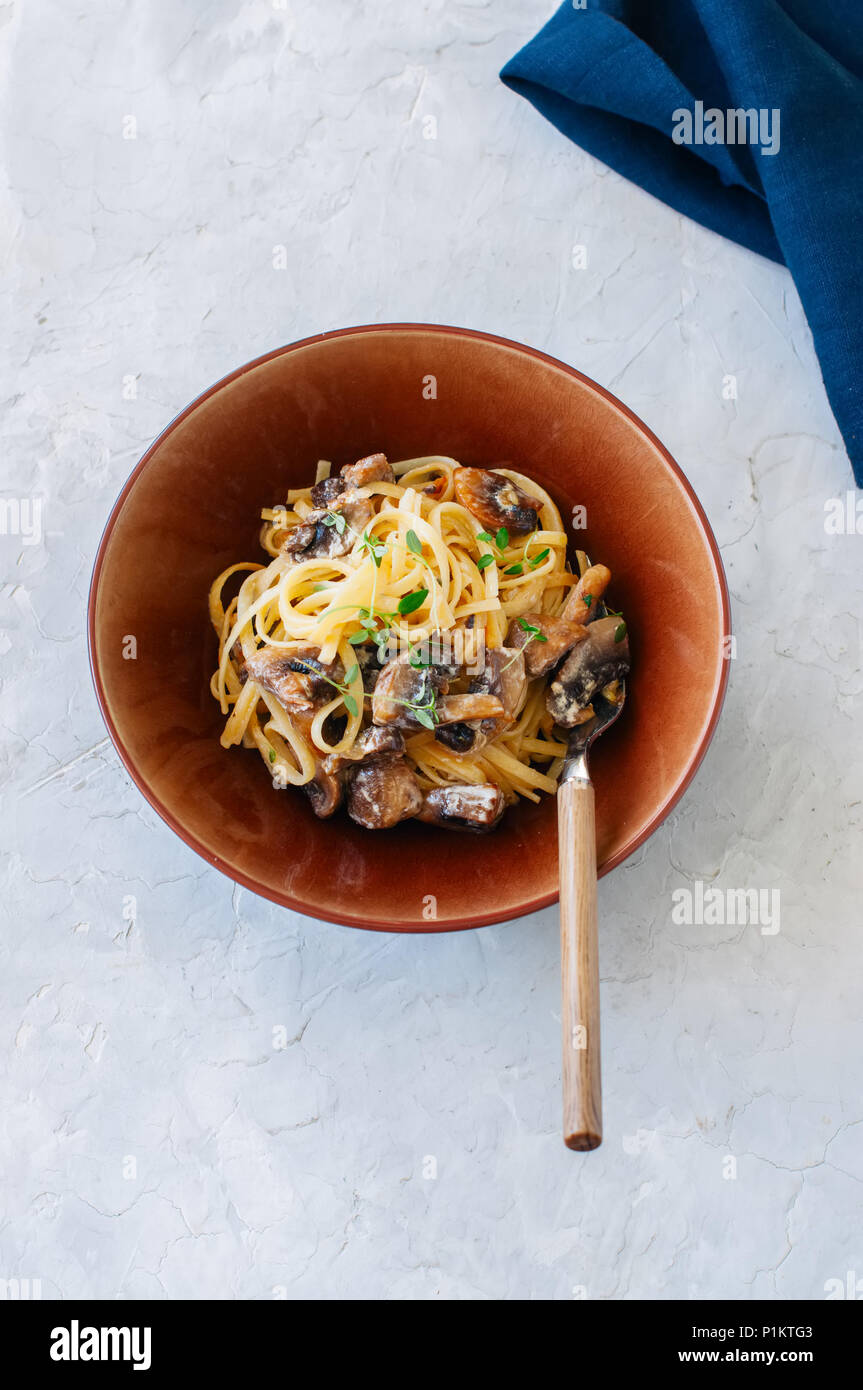
[[[863,486],[863,0],[564,0],[500,76],[605,164],[788,265]]]

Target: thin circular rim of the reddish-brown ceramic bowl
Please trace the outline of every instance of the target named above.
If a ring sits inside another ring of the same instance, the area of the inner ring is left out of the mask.
[[[481,342],[495,343],[502,348],[510,348],[518,353],[524,353],[528,357],[535,357],[538,361],[543,361],[552,367],[559,368],[568,377],[573,377],[575,381],[588,386],[596,395],[602,396],[606,402],[614,406],[616,410],[621,411],[649,439],[653,448],[659,452],[667,467],[671,470],[671,473],[681,484],[681,488],[692,506],[695,518],[699,524],[705,541],[707,542],[707,549],[713,560],[718,598],[720,598],[723,638],[727,639],[731,635],[731,603],[728,598],[728,581],[725,577],[725,569],[723,566],[720,548],[713,534],[710,521],[707,520],[707,514],[702,503],[699,502],[695,489],[689,482],[688,477],[685,475],[684,470],[671,456],[671,453],[664,446],[661,439],[659,439],[649,428],[649,425],[646,425],[643,420],[639,416],[636,416],[635,411],[631,410],[627,404],[624,404],[624,402],[620,400],[611,391],[607,391],[598,381],[593,381],[592,377],[588,377],[585,373],[578,371],[577,367],[570,367],[568,363],[561,361],[559,357],[553,357],[550,353],[542,352],[538,348],[529,348],[527,343],[520,343],[513,338],[502,338],[499,334],[485,332],[484,329],[479,328],[460,328],[453,324],[428,324],[428,322],[410,322],[410,321],[386,322],[386,324],[356,324],[354,327],[349,328],[334,328],[327,332],[311,334],[307,338],[299,338],[295,342],[282,345],[281,348],[274,348],[271,352],[263,353],[260,357],[253,357],[250,361],[243,363],[242,367],[236,367],[233,371],[229,371],[225,377],[220,377],[218,381],[215,381],[211,386],[207,386],[204,391],[202,391],[200,395],[195,396],[195,399],[190,400],[188,406],[185,406],[176,416],[174,416],[174,418],[157,435],[153,443],[145,450],[142,457],[132,468],[124,486],[121,488],[117,500],[114,502],[114,506],[111,507],[108,518],[104,524],[104,530],[101,532],[101,538],[99,541],[96,559],[93,562],[93,571],[90,575],[90,587],[88,595],[88,624],[86,624],[90,677],[93,680],[99,710],[101,713],[101,719],[108,731],[114,749],[117,751],[121,763],[124,764],[129,777],[143,795],[145,801],[147,801],[153,808],[153,810],[161,817],[161,820],[164,820],[165,824],[176,835],[179,835],[183,844],[186,844],[195,853],[197,853],[214,869],[218,869],[220,873],[225,874],[225,877],[231,878],[239,887],[247,888],[250,892],[257,894],[257,897],[267,898],[282,908],[288,908],[292,912],[300,913],[302,916],[313,917],[317,919],[318,922],[338,923],[339,926],[346,926],[346,927],[359,927],[368,931],[389,931],[393,934],[406,934],[406,935],[414,935],[414,934],[428,935],[428,934],[438,934],[442,931],[468,931],[475,927],[486,927],[499,922],[511,922],[518,917],[528,916],[532,912],[539,912],[542,908],[548,908],[552,903],[557,902],[559,894],[557,892],[538,894],[536,898],[532,898],[529,902],[524,902],[511,910],[479,912],[479,913],[472,913],[471,916],[467,916],[457,922],[431,920],[428,923],[417,924],[414,922],[397,923],[397,922],[371,920],[368,917],[361,917],[356,913],[349,913],[349,912],[339,915],[325,915],[322,912],[315,912],[314,905],[292,898],[292,895],[288,892],[279,892],[278,890],[272,890],[265,887],[264,884],[257,883],[254,878],[249,877],[249,874],[245,874],[240,870],[235,869],[233,866],[228,865],[224,859],[221,859],[221,856],[211,853],[197,840],[197,837],[193,833],[190,833],[174,816],[171,809],[165,806],[164,802],[156,795],[156,792],[147,785],[146,778],[142,774],[139,774],[138,767],[135,764],[135,759],[131,751],[125,746],[124,741],[121,739],[120,733],[114,724],[114,720],[111,719],[104,685],[101,681],[99,657],[96,653],[96,600],[97,600],[99,581],[101,577],[101,569],[104,564],[108,541],[111,539],[111,534],[114,531],[122,506],[128,495],[132,492],[138,481],[138,477],[147,467],[154,453],[161,446],[161,443],[168,438],[168,435],[172,434],[174,430],[176,430],[178,425],[181,425],[182,421],[186,420],[195,410],[197,410],[197,407],[203,404],[204,400],[208,400],[210,396],[215,395],[215,392],[221,391],[224,386],[228,386],[231,382],[238,381],[239,377],[243,377],[247,371],[254,371],[257,367],[261,367],[267,361],[272,361],[272,359],[275,357],[286,356],[288,353],[297,352],[302,348],[309,348],[313,343],[328,342],[329,339],[335,338],[349,338],[356,334],[372,334],[372,332],[432,332],[442,335],[452,334],[453,336],[475,338]],[[607,873],[611,873],[613,869],[617,869],[618,865],[621,865],[625,859],[634,855],[635,851],[639,849],[650,838],[650,835],[653,835],[656,830],[659,830],[663,821],[667,820],[670,813],[674,810],[674,808],[677,806],[678,801],[681,799],[687,788],[691,785],[695,774],[698,773],[705,759],[705,755],[707,752],[707,748],[710,746],[710,742],[716,733],[716,727],[718,724],[718,719],[725,701],[725,692],[728,688],[730,664],[731,663],[727,659],[724,657],[718,659],[718,678],[716,681],[713,691],[710,717],[707,719],[699,744],[689,759],[684,776],[671,790],[668,796],[666,796],[661,805],[656,808],[648,824],[632,840],[627,841],[627,844],[623,845],[621,849],[617,851],[617,853],[611,855],[611,858],[606,860],[606,863],[599,870],[600,878],[605,877]]]

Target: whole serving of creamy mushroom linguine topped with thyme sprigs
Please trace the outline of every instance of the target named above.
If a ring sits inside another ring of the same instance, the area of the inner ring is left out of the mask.
[[[630,646],[610,571],[582,550],[570,569],[543,488],[375,453],[336,475],[318,463],[261,518],[270,563],[210,591],[224,748],[370,830],[492,830],[556,791],[567,731],[618,698]]]

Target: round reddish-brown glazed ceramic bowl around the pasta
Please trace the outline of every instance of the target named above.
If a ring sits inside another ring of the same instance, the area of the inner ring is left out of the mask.
[[[272,790],[256,753],[220,746],[213,578],[261,559],[260,507],[307,484],[317,459],[340,467],[374,450],[509,463],[564,517],[586,507],[574,541],[613,571],[634,662],[624,714],[592,759],[600,873],[631,855],[682,795],[718,719],[721,560],[692,488],[631,410],[571,367],[489,334],[429,324],[322,334],[188,406],[132,473],[99,546],[89,605],[99,703],[150,805],[254,892],[386,931],[517,917],[557,897],[553,798],[510,809],[488,837],[418,821],[365,831],[346,816],[317,820],[300,792]]]

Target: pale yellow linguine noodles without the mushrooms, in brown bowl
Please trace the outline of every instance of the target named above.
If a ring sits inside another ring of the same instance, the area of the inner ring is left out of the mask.
[[[327,512],[315,505],[311,485],[293,489],[283,506],[261,512],[268,562],[231,564],[210,589],[218,637],[211,692],[225,716],[222,746],[256,748],[282,787],[309,790],[324,760],[347,766],[357,756],[357,741],[372,720],[372,692],[359,657],[386,641],[389,652],[406,652],[414,664],[414,653],[443,642],[447,659],[456,651],[466,671],[447,688],[470,689],[470,671],[481,669],[484,649],[504,648],[514,623],[538,634],[535,614],[559,617],[578,582],[567,566],[560,513],[531,478],[509,468],[484,473],[509,480],[536,505],[528,534],[506,527],[492,534],[459,500],[454,459],[429,455],[384,464],[378,471],[385,477],[350,492],[365,521],[361,530],[352,525],[347,506],[339,510],[339,499]],[[468,471],[481,470],[463,475]],[[320,463],[315,484],[329,475],[331,466]],[[296,545],[286,549],[300,535],[297,528],[304,527],[306,535],[315,521],[317,534],[338,539],[343,553],[310,553],[314,545],[306,552]],[[529,623],[524,614],[532,616]],[[278,696],[281,687],[256,677],[261,653],[271,660],[296,657],[300,671],[307,660],[311,674],[329,673],[318,676],[322,696],[297,714],[290,701]],[[528,678],[521,706],[498,721],[495,737],[467,752],[441,741],[434,695],[428,708],[409,705],[403,758],[420,791],[493,784],[506,803],[554,792],[566,735],[546,709],[546,688],[545,677]]]

